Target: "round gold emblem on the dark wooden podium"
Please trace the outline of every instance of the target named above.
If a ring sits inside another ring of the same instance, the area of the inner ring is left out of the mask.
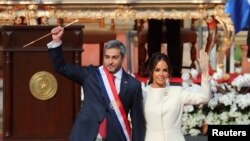
[[[35,73],[30,79],[30,92],[39,100],[52,98],[57,91],[57,81],[54,75],[47,71]]]

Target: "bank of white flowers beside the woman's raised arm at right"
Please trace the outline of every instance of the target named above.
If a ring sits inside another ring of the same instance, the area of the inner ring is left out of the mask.
[[[182,75],[183,87],[193,87],[195,70]],[[189,77],[188,77],[189,76]],[[206,105],[186,105],[182,117],[184,135],[205,135],[207,125],[250,124],[250,74],[238,75],[231,83],[218,71],[212,75],[212,97]]]

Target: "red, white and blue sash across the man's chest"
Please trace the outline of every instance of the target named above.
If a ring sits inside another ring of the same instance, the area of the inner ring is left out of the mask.
[[[103,69],[103,70],[102,70]],[[127,118],[125,109],[118,96],[112,75],[105,67],[99,67],[97,71],[97,78],[100,84],[102,94],[108,106],[110,106],[110,113],[117,126],[119,132],[126,141],[131,141],[131,129]]]

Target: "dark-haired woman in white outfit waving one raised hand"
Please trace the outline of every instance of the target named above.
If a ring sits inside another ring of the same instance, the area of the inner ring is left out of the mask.
[[[210,99],[209,58],[204,49],[200,51],[200,56],[201,89],[195,92],[167,84],[171,67],[166,55],[156,53],[150,59],[149,85],[143,89],[145,141],[185,141],[181,131],[184,105],[205,104]]]

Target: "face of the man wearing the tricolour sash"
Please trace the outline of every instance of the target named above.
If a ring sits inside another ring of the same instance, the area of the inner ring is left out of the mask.
[[[110,73],[114,74],[122,67],[123,58],[120,49],[106,49],[103,57],[103,66],[105,66]]]

